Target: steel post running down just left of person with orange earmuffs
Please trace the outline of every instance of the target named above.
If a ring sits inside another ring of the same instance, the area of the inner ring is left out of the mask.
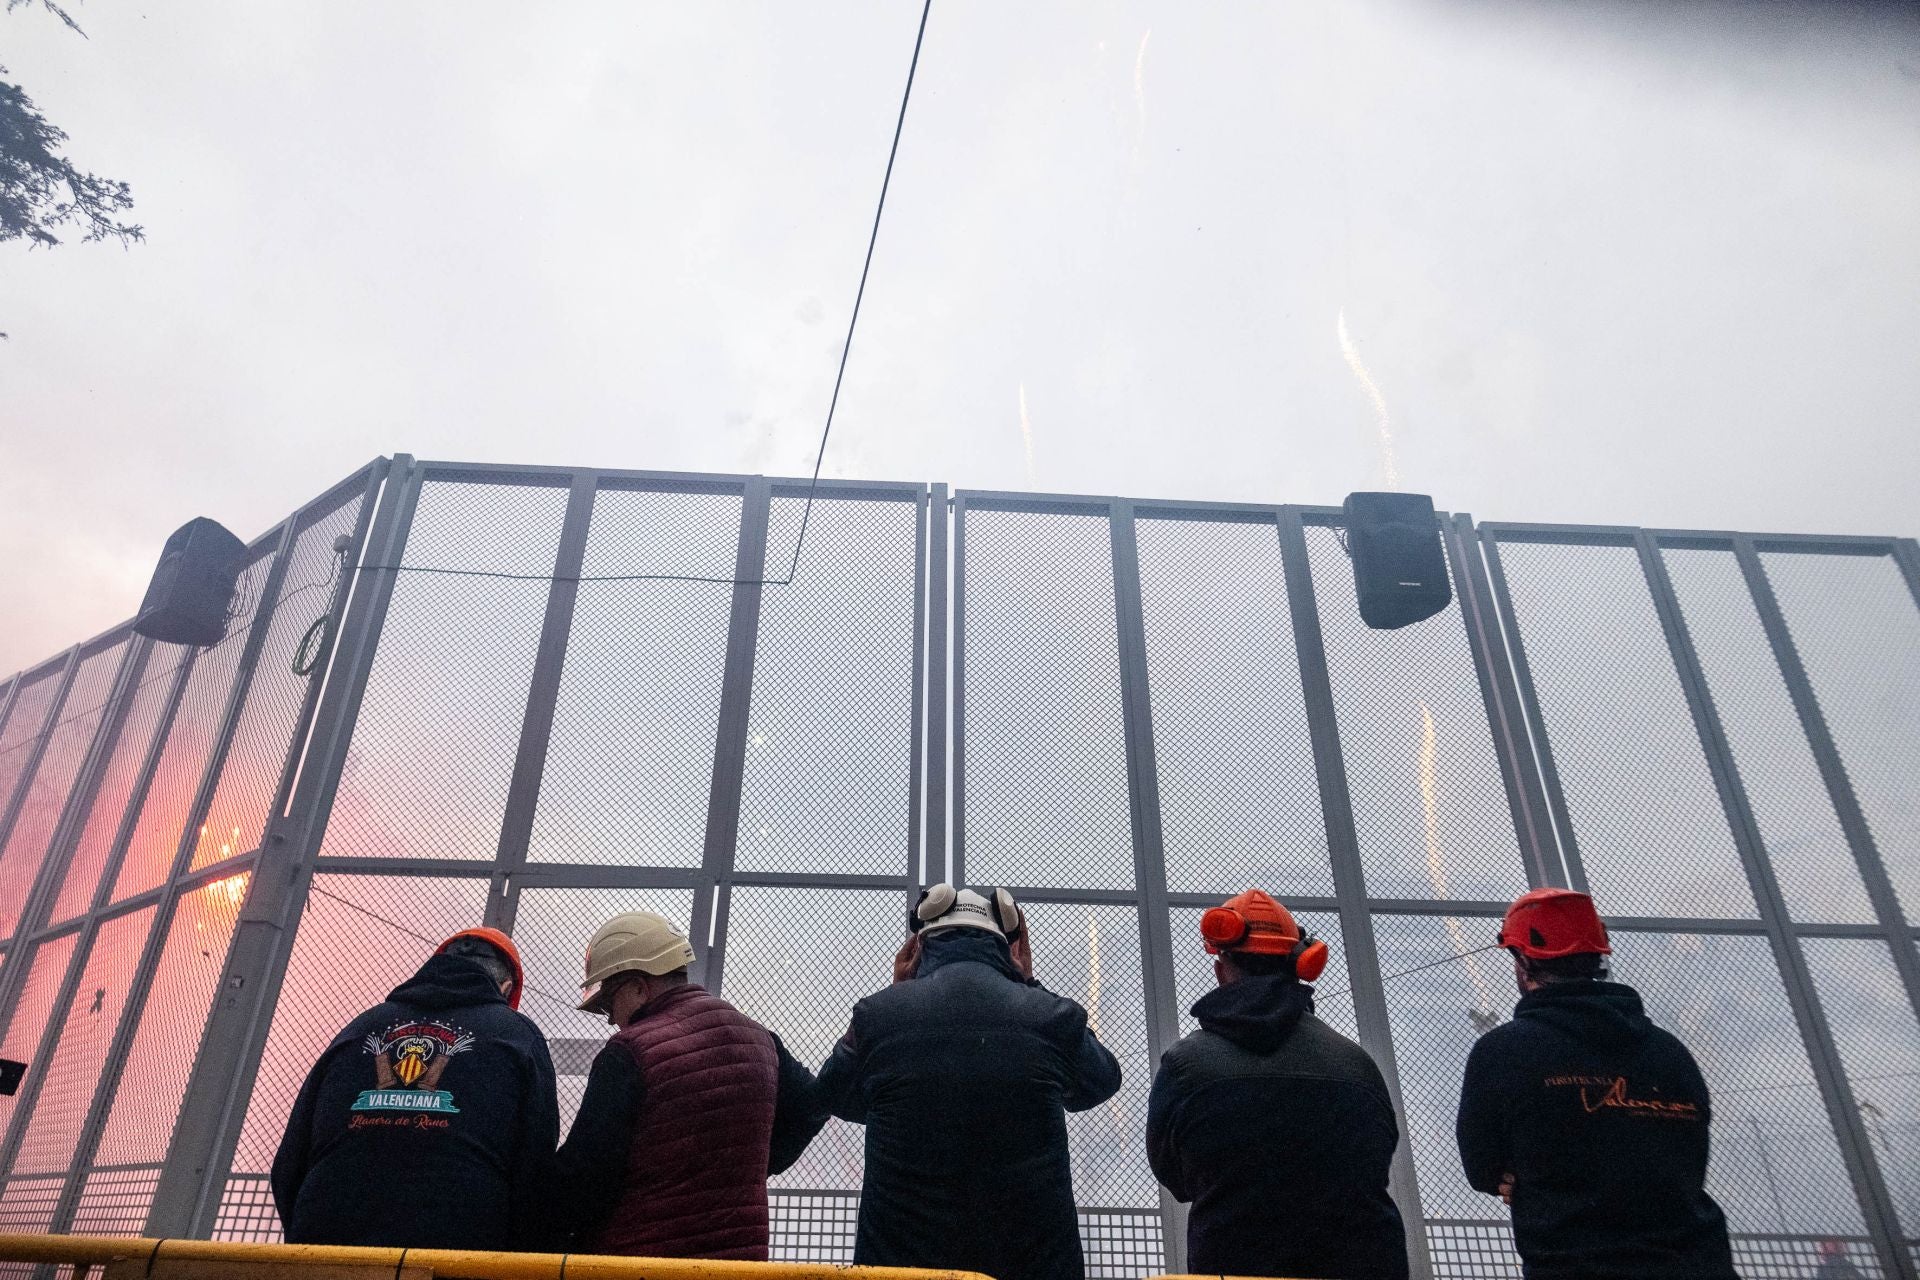
[[[1133,883],[1140,931],[1140,975],[1146,1002],[1148,1073],[1181,1038],[1179,986],[1173,971],[1173,915],[1167,906],[1167,858],[1160,821],[1160,764],[1154,754],[1152,687],[1146,662],[1146,614],[1140,603],[1140,547],[1133,503],[1108,507],[1114,547],[1114,622],[1119,633],[1119,708],[1127,750],[1127,816],[1133,829]],[[1160,1188],[1160,1222],[1167,1270],[1187,1270],[1185,1205]]]

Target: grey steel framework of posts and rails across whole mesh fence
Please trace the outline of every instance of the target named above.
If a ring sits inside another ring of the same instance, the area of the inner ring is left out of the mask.
[[[415,462],[397,455],[390,464],[382,459],[355,472],[344,486],[336,486],[323,499],[309,503],[294,518],[276,526],[255,549],[269,547],[275,555],[273,572],[284,574],[284,555],[296,535],[296,526],[303,526],[309,512],[323,509],[342,489],[361,484],[367,499],[359,516],[359,545],[365,549],[365,566],[397,564],[405,547],[413,507],[428,480],[480,480],[486,484],[511,484],[513,478],[532,484],[568,487],[568,522],[563,532],[561,557],[568,555],[568,535],[576,533],[584,547],[586,512],[591,493],[601,484],[659,484],[697,486],[701,491],[732,489],[743,497],[741,545],[755,541],[749,533],[758,518],[758,539],[764,547],[766,509],[772,497],[793,497],[804,491],[804,480],[762,480],[749,476],[705,476],[674,472],[611,472],[576,468],[526,468],[490,466],[461,462]],[[545,735],[551,733],[553,693],[559,687],[559,664],[564,656],[566,614],[574,583],[553,583],[547,597],[547,612],[541,624],[541,643],[536,656],[530,699],[520,729],[520,743],[515,754],[515,777],[509,787],[509,818],[503,821],[501,850],[493,860],[447,862],[419,865],[388,858],[317,858],[321,835],[326,825],[326,812],[332,804],[334,789],[340,781],[342,756],[349,745],[351,729],[365,693],[367,674],[372,662],[386,606],[394,593],[397,574],[348,576],[336,591],[334,616],[344,616],[338,641],[330,651],[330,668],[324,685],[317,677],[307,687],[305,702],[300,710],[300,723],[294,735],[296,750],[290,752],[286,770],[275,798],[275,816],[261,839],[261,850],[248,852],[232,860],[223,860],[200,871],[186,873],[184,864],[190,842],[184,841],[175,856],[173,873],[165,885],[127,898],[108,902],[111,896],[113,871],[125,852],[125,841],[132,816],[123,821],[115,850],[108,869],[100,877],[96,900],[86,913],[73,921],[48,925],[50,894],[58,887],[60,871],[71,856],[77,839],[77,825],[100,785],[106,756],[115,741],[121,720],[131,702],[131,689],[138,685],[142,664],[152,647],[136,641],[127,647],[115,676],[115,685],[102,723],[88,747],[86,760],[77,771],[73,794],[60,818],[52,854],[40,867],[33,894],[29,898],[23,925],[0,952],[6,963],[0,967],[0,1015],[10,1017],[25,983],[25,965],[12,963],[25,956],[33,944],[75,933],[83,944],[73,950],[63,988],[71,990],[79,981],[79,967],[86,958],[86,942],[106,921],[144,906],[159,906],[156,923],[148,935],[148,944],[140,956],[140,973],[152,977],[157,961],[157,948],[165,933],[165,921],[179,896],[205,883],[252,869],[252,889],[242,912],[240,927],[228,952],[227,986],[209,1015],[202,1050],[196,1057],[194,1075],[182,1103],[179,1126],[173,1136],[161,1186],[156,1190],[148,1230],[161,1234],[205,1234],[211,1215],[217,1209],[219,1188],[230,1163],[232,1140],[238,1136],[244,1103],[252,1088],[252,1073],[257,1069],[259,1048],[265,1040],[267,1021],[273,1013],[278,983],[284,977],[284,961],[290,950],[292,923],[298,917],[300,902],[305,896],[307,881],[315,871],[382,871],[382,873],[438,873],[461,875],[478,871],[492,877],[493,892],[488,902],[488,915],[495,923],[513,923],[518,890],[524,885],[538,887],[614,887],[614,889],[693,889],[697,894],[695,915],[705,913],[705,927],[714,946],[701,956],[710,965],[703,975],[718,984],[724,969],[726,925],[732,904],[732,889],[783,887],[783,889],[900,889],[906,896],[918,890],[924,879],[948,875],[964,879],[966,867],[966,735],[964,735],[964,687],[966,687],[966,551],[964,514],[975,509],[998,510],[1073,510],[1081,514],[1104,514],[1108,520],[1110,551],[1114,557],[1114,608],[1116,608],[1116,647],[1121,672],[1121,723],[1127,756],[1127,823],[1133,833],[1135,881],[1127,890],[1087,890],[1087,889],[1048,889],[1012,885],[1033,902],[1073,902],[1073,904],[1127,904],[1137,910],[1142,931],[1142,979],[1146,996],[1148,1038],[1158,1052],[1171,1044],[1177,1027],[1173,1019],[1173,973],[1171,942],[1167,938],[1167,910],[1204,906],[1206,894],[1179,894],[1165,890],[1165,864],[1160,848],[1160,808],[1154,768],[1152,741],[1152,691],[1144,662],[1144,641],[1140,622],[1140,580],[1139,553],[1133,543],[1133,518],[1146,512],[1156,518],[1212,518],[1273,524],[1281,557],[1286,566],[1288,612],[1294,626],[1302,693],[1308,706],[1309,735],[1313,739],[1313,766],[1319,785],[1323,821],[1327,825],[1329,846],[1334,865],[1334,894],[1329,898],[1298,898],[1306,910],[1338,912],[1344,929],[1348,963],[1354,965],[1356,1013],[1361,1023],[1361,1040],[1382,1063],[1382,1071],[1396,1092],[1398,1071],[1394,1067],[1394,1046],[1384,1011],[1384,994],[1379,973],[1379,952],[1373,940],[1371,915],[1492,915],[1503,904],[1492,902],[1427,902],[1373,898],[1365,890],[1365,875],[1359,865],[1352,798],[1346,793],[1346,768],[1340,756],[1338,710],[1329,685],[1329,664],[1325,641],[1319,635],[1319,614],[1313,597],[1313,576],[1308,566],[1304,530],[1338,524],[1338,510],[1325,507],[1263,507],[1233,503],[1165,503],[1165,501],[1127,501],[1114,497],[1073,497],[1073,495],[1031,495],[1031,493],[985,493],[962,491],[952,499],[945,486],[910,484],[860,484],[860,482],[822,482],[824,497],[876,497],[883,501],[918,503],[916,533],[916,618],[914,618],[914,699],[912,699],[912,766],[910,766],[910,814],[908,818],[908,862],[900,877],[893,875],[812,875],[812,873],[739,873],[732,865],[733,835],[724,831],[724,823],[737,823],[739,810],[739,756],[735,745],[745,735],[747,704],[751,702],[751,635],[758,626],[758,587],[735,585],[728,622],[728,662],[724,676],[724,712],[714,750],[714,779],[708,796],[707,846],[699,869],[660,869],[660,867],[605,867],[578,864],[530,864],[524,860],[524,842],[515,831],[532,819],[532,804],[538,798],[540,768],[536,754],[545,748]],[[374,514],[372,497],[380,495],[380,509]],[[584,493],[584,497],[582,497]],[[948,516],[950,507],[950,520]],[[755,516],[758,510],[758,516]],[[1899,979],[1908,1000],[1920,1007],[1920,927],[1910,925],[1899,910],[1885,867],[1872,842],[1847,781],[1845,762],[1826,727],[1818,695],[1805,664],[1793,647],[1793,635],[1774,599],[1772,583],[1761,560],[1766,551],[1811,551],[1820,555],[1874,555],[1889,557],[1899,566],[1908,593],[1920,599],[1920,545],[1912,539],[1859,539],[1859,537],[1803,537],[1803,535],[1747,535],[1695,530],[1634,530],[1617,526],[1538,526],[1538,524],[1486,524],[1475,526],[1469,516],[1442,518],[1450,566],[1453,570],[1455,593],[1461,603],[1461,624],[1469,635],[1469,649],[1482,700],[1486,704],[1488,725],[1496,756],[1500,760],[1501,781],[1515,823],[1515,833],[1526,860],[1526,881],[1536,883],[1584,883],[1578,860],[1578,846],[1567,819],[1565,793],[1551,756],[1551,741],[1540,714],[1538,691],[1521,641],[1521,626],[1515,618],[1511,591],[1500,562],[1500,545],[1548,541],[1565,545],[1613,545],[1632,547],[1640,558],[1649,583],[1649,593],[1657,604],[1661,628],[1680,676],[1688,712],[1701,739],[1701,750],[1713,770],[1715,789],[1736,833],[1741,865],[1755,885],[1755,898],[1761,917],[1757,921],[1728,919],[1690,919],[1690,917],[1615,917],[1615,923],[1628,931],[1649,933],[1732,933],[1747,936],[1766,936],[1784,981],[1801,1038],[1809,1050],[1809,1059],[1822,1086],[1822,1098],[1830,1115],[1841,1115],[1837,1140],[1847,1155],[1849,1174],[1857,1188],[1864,1188],[1864,1209],[1868,1230],[1874,1236],[1880,1261],[1889,1267],[1889,1274],[1912,1276],[1912,1259],[1905,1242],[1893,1238],[1895,1222],[1887,1190],[1880,1180],[1878,1165],[1870,1142],[1860,1132],[1859,1115],[1851,1111],[1851,1092],[1845,1080],[1843,1063],[1834,1048],[1834,1038],[1820,1013],[1812,984],[1805,973],[1801,958],[1801,938],[1876,938],[1889,944]],[[950,547],[948,547],[950,541]],[[1782,681],[1793,704],[1809,748],[1818,764],[1822,783],[1834,804],[1841,829],[1847,835],[1849,850],[1862,869],[1862,881],[1874,906],[1874,923],[1818,925],[1795,923],[1784,910],[1780,889],[1770,873],[1764,844],[1753,821],[1743,783],[1734,768],[1732,750],[1724,727],[1713,704],[1699,656],[1692,649],[1684,614],[1678,606],[1672,583],[1661,562],[1663,549],[1715,549],[1732,551],[1743,581],[1755,603],[1755,610],[1766,631],[1768,649],[1780,668]],[[745,562],[745,560],[741,560]],[[576,560],[578,564],[578,560]],[[760,560],[764,564],[764,560]],[[557,572],[566,570],[557,564]],[[578,572],[578,568],[574,570]],[[755,566],[753,576],[760,576]],[[735,570],[737,576],[747,576]],[[952,589],[948,589],[952,583]],[[261,599],[273,599],[278,591],[263,591]],[[753,593],[753,601],[741,599]],[[348,597],[351,595],[351,604]],[[948,618],[952,626],[948,626]],[[263,616],[261,624],[267,622]],[[211,787],[219,775],[227,745],[242,710],[246,685],[252,679],[261,635],[250,637],[248,654],[240,664],[228,695],[227,710],[221,718],[215,750],[209,756],[205,773],[194,798],[192,814],[198,814],[211,800]],[[71,683],[83,654],[98,652],[125,635],[125,628],[115,628],[102,637],[94,637],[81,647],[60,654],[23,672],[12,681],[0,683],[0,731],[6,718],[23,702],[23,693],[35,677],[54,674],[61,689],[52,706],[44,712],[44,725],[52,725],[58,716],[65,685]],[[952,691],[948,697],[948,658],[952,645]],[[167,708],[161,718],[161,733],[156,735],[150,758],[142,768],[138,789],[152,779],[157,754],[165,741],[165,722],[175,714],[179,699],[190,677],[190,662],[180,664],[175,683],[169,689]],[[324,689],[324,691],[323,691]],[[948,725],[950,714],[950,725]],[[42,733],[44,733],[42,725]],[[311,741],[309,739],[311,731]],[[42,737],[44,743],[44,737]],[[305,750],[300,747],[305,745]],[[922,758],[924,756],[924,758]],[[298,787],[296,787],[298,773]],[[21,777],[13,794],[0,796],[0,839],[6,827],[15,821],[31,777]],[[136,789],[136,794],[138,794]],[[718,808],[718,814],[714,812]],[[948,818],[952,839],[948,841]],[[192,831],[194,823],[188,823]],[[922,852],[925,867],[922,871]],[[1158,871],[1158,875],[1156,875]],[[695,935],[699,933],[695,925]],[[699,942],[699,936],[695,936]],[[142,983],[144,990],[144,983]],[[129,1002],[115,1032],[115,1046],[125,1052],[138,1025],[140,1000]],[[52,1042],[54,1019],[44,1034]],[[77,1213],[86,1213],[81,1203],[86,1173],[109,1176],[144,1176],[138,1171],[90,1169],[88,1151],[98,1144],[106,1121],[106,1107],[117,1084],[117,1065],[102,1073],[94,1090],[92,1105],[83,1128],[83,1148],[73,1169],[65,1176],[54,1221],[73,1221]],[[23,1098],[31,1103],[31,1098]],[[25,1117],[29,1107],[21,1107]],[[1845,1117],[1851,1117],[1847,1121]],[[23,1128],[15,1125],[15,1128]],[[8,1142],[6,1153],[17,1146],[17,1134]],[[1407,1155],[1402,1144],[1402,1157]],[[111,1178],[109,1178],[111,1180]],[[46,1182],[46,1178],[23,1178],[23,1182]],[[23,1188],[36,1196],[46,1188]],[[1407,1205],[1409,1226],[1421,1222],[1417,1188],[1411,1176],[1411,1161],[1404,1159],[1404,1169],[1396,1169],[1396,1194],[1404,1213]],[[806,1192],[785,1192],[801,1196]],[[1100,1213],[1100,1211],[1094,1211]],[[1129,1211],[1139,1221],[1140,1211]],[[1438,1219],[1434,1221],[1436,1224]],[[1183,1242],[1183,1224],[1177,1207],[1162,1205],[1162,1228],[1167,1245],[1169,1265],[1177,1261]],[[1415,1274],[1430,1274],[1425,1257],[1425,1232],[1413,1244]],[[1786,1238],[1782,1238],[1786,1240]]]

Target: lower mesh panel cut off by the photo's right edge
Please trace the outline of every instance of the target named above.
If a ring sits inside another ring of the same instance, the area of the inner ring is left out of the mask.
[[[1834,1044],[1893,1211],[1920,1242],[1920,1023],[1878,938],[1805,938]]]

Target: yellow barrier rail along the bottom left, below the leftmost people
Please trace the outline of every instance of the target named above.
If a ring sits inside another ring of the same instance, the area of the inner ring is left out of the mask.
[[[319,1244],[127,1240],[115,1236],[0,1236],[0,1263],[100,1267],[104,1280],[991,1280],[973,1270],[839,1267],[833,1263],[712,1263],[589,1253],[478,1249],[363,1249]]]

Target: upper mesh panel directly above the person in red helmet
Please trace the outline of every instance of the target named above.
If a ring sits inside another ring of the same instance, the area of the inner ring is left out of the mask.
[[[1601,910],[1753,917],[1638,553],[1501,543],[1500,557]]]

